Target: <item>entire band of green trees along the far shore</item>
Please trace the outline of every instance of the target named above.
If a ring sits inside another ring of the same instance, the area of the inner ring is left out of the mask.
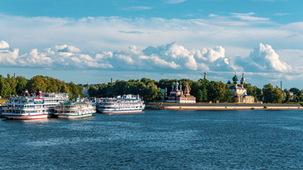
[[[139,94],[144,101],[160,101],[162,92],[160,89],[167,89],[167,96],[170,95],[172,84],[179,82],[184,91],[185,86],[189,86],[189,91],[192,96],[196,97],[197,102],[232,102],[232,94],[228,86],[221,81],[209,81],[207,79],[199,79],[193,81],[190,79],[160,79],[155,81],[153,79],[130,79],[128,81],[116,80],[108,84],[74,84],[72,82],[65,83],[60,79],[53,77],[35,76],[31,79],[26,79],[22,76],[7,77],[0,75],[0,95],[2,98],[9,98],[10,96],[21,96],[23,90],[28,89],[30,94],[35,93],[37,89],[43,92],[68,93],[69,98],[83,96],[82,88],[88,88],[88,94],[91,97],[113,97],[123,94]],[[231,84],[232,86],[233,84]],[[244,84],[247,89],[247,94],[255,97],[255,101],[263,101],[264,103],[284,103],[290,101],[303,101],[303,94],[297,88],[290,90],[280,89],[278,86],[272,84],[265,84],[263,89],[250,84]],[[292,92],[293,99],[290,92]]]

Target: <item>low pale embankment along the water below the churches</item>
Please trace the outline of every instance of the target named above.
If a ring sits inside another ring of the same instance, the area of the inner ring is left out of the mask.
[[[145,103],[150,110],[302,110],[299,103],[260,104],[260,103]]]

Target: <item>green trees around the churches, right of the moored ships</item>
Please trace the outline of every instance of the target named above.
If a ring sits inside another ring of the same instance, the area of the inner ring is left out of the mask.
[[[228,86],[221,81],[209,81],[207,79],[199,79],[192,81],[190,79],[130,79],[128,81],[117,80],[109,84],[96,84],[89,86],[89,95],[93,97],[113,97],[122,94],[139,94],[143,96],[144,101],[160,101],[162,92],[160,89],[167,89],[167,96],[170,95],[172,84],[178,81],[182,85],[182,90],[186,85],[192,96],[196,97],[197,102],[232,102],[232,94]],[[231,84],[232,86],[233,84]],[[283,103],[290,101],[303,101],[302,91],[297,88],[290,89],[294,93],[294,99],[290,98],[290,91],[285,89],[282,91],[278,86],[265,84],[263,89],[258,86],[244,84],[247,94],[255,97],[255,101],[263,101],[264,103]]]

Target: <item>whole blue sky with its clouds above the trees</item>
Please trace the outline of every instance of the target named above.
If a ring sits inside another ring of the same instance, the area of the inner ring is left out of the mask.
[[[4,0],[1,74],[193,79],[303,89],[303,1]]]

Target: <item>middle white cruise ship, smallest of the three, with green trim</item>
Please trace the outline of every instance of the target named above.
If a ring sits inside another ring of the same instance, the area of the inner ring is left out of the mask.
[[[55,108],[57,118],[84,118],[96,113],[96,107],[91,101],[77,98],[76,101],[60,103]]]

